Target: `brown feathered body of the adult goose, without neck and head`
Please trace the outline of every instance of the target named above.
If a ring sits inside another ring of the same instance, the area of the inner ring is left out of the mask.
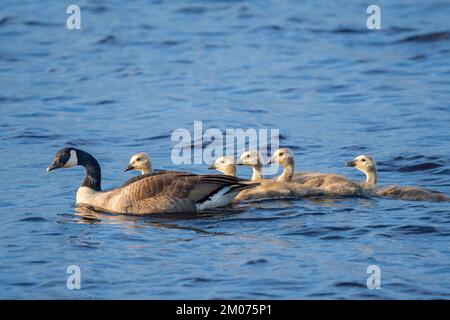
[[[77,204],[88,204],[98,209],[125,214],[188,213],[199,211],[199,206],[210,201],[224,187],[229,188],[228,197],[232,197],[231,202],[239,191],[254,186],[242,183],[235,177],[175,171],[146,174],[137,178],[108,192],[87,192],[81,189],[77,194]]]

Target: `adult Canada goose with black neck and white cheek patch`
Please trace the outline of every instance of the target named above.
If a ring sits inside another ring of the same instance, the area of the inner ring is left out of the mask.
[[[230,176],[166,171],[141,175],[119,188],[102,192],[97,160],[75,148],[58,151],[47,171],[77,165],[86,170],[77,192],[77,205],[123,214],[195,213],[226,206],[242,190],[258,185]]]

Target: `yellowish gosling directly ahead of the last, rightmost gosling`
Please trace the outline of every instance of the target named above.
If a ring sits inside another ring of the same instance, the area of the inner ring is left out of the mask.
[[[351,181],[338,174],[321,172],[294,173],[294,155],[288,148],[281,148],[275,151],[268,164],[271,163],[278,163],[284,167],[283,173],[277,178],[277,181],[296,183],[301,186],[302,192],[310,189],[313,193],[319,192],[329,196],[361,195],[363,193],[360,183]]]

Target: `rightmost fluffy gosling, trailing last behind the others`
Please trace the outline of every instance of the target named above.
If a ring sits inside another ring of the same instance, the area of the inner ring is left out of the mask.
[[[363,172],[366,175],[364,184],[369,188],[373,188],[373,194],[377,196],[412,201],[450,201],[450,197],[444,193],[417,187],[388,186],[376,189],[378,180],[377,165],[370,156],[357,156],[353,161],[347,162],[347,166]]]

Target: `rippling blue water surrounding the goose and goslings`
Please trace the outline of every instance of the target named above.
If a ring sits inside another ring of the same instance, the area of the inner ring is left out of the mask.
[[[85,217],[76,146],[118,186],[130,156],[170,161],[177,128],[278,128],[297,170],[450,194],[450,5],[379,1],[64,1],[0,9],[0,298],[448,299],[450,205],[262,201],[217,216]],[[250,171],[239,170],[249,177]],[[81,268],[81,290],[66,268]],[[381,289],[369,290],[369,265]]]

